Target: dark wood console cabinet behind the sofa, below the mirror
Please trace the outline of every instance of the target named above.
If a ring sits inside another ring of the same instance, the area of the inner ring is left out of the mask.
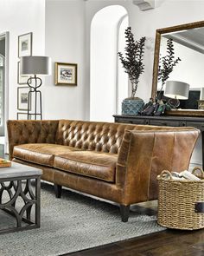
[[[157,126],[175,126],[175,127],[194,127],[201,130],[202,139],[202,167],[204,168],[204,117],[197,116],[141,116],[141,115],[113,115],[115,122],[157,125]]]

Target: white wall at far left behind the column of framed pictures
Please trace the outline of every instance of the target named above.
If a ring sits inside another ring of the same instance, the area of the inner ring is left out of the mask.
[[[16,119],[18,36],[33,32],[33,55],[44,55],[45,1],[1,0],[0,34],[10,32],[9,118]],[[20,111],[21,112],[21,111]]]

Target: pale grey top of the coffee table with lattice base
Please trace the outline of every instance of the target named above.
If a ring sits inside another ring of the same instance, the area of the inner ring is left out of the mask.
[[[14,161],[11,161],[11,167],[0,167],[0,179],[19,178],[41,174],[42,171],[39,168],[29,167]]]

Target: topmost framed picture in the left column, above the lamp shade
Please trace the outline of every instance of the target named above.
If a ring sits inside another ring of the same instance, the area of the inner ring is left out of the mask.
[[[18,57],[32,55],[32,32],[18,36]]]

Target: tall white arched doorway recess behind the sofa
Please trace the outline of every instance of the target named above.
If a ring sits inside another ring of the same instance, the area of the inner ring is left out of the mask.
[[[105,7],[92,18],[90,120],[113,121],[128,95],[128,78],[118,62],[127,26],[127,10],[120,5]]]

